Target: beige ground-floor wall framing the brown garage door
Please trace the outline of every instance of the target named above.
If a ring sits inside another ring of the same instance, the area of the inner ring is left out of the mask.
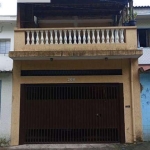
[[[132,67],[131,67],[132,63]],[[141,137],[141,109],[137,60],[54,60],[54,61],[14,61],[13,69],[13,108],[11,145],[19,144],[19,114],[20,114],[20,84],[22,83],[69,83],[68,76],[61,77],[20,77],[20,70],[49,70],[49,69],[122,69],[120,76],[73,76],[71,83],[123,83],[124,85],[124,114],[125,141],[131,143],[134,137]],[[133,69],[133,76],[131,76]],[[133,82],[131,82],[133,79]],[[131,86],[133,83],[133,86]],[[133,95],[131,94],[133,87]],[[138,94],[139,93],[139,94]],[[132,98],[134,103],[132,103]],[[132,112],[134,104],[134,113]],[[126,108],[130,105],[130,108]],[[133,116],[134,115],[134,116]],[[134,117],[134,119],[132,118]],[[133,124],[136,120],[136,124]],[[135,129],[135,134],[133,132]],[[135,138],[136,140],[136,138]]]

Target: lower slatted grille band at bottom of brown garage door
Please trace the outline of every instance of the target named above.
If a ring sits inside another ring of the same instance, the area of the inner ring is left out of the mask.
[[[113,140],[112,140],[113,139]],[[26,143],[119,142],[118,129],[28,129]]]

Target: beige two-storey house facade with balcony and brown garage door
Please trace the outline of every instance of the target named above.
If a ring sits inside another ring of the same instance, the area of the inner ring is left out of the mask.
[[[18,0],[12,145],[142,139],[132,3]]]

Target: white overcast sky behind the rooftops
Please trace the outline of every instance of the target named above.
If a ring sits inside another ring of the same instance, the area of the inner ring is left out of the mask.
[[[16,15],[17,0],[0,0],[0,15]],[[134,0],[134,6],[150,6],[150,0]]]

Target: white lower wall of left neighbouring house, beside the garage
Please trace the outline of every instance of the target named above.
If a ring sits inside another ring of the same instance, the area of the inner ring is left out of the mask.
[[[11,105],[12,105],[12,73],[0,73],[2,82],[0,110],[0,138],[10,140]]]

